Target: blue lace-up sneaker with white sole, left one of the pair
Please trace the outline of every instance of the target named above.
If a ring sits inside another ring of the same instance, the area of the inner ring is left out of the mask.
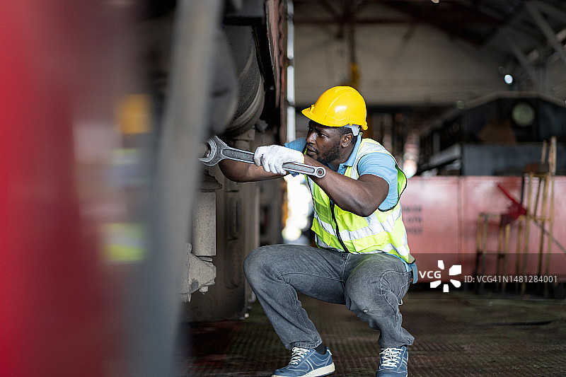
[[[334,363],[330,349],[321,355],[312,348],[293,347],[289,365],[277,369],[271,377],[318,377],[333,373]]]

